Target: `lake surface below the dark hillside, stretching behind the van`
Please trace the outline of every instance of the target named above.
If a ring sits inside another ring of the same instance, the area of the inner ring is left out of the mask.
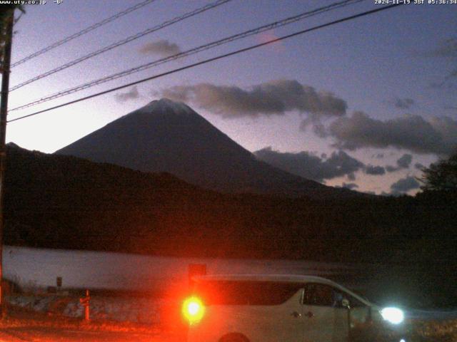
[[[5,246],[4,277],[22,289],[163,291],[183,288],[189,264],[208,274],[308,274],[324,276],[385,305],[457,308],[455,269],[406,265],[341,264],[306,260],[153,257],[138,254]],[[172,291],[171,291],[172,292]]]

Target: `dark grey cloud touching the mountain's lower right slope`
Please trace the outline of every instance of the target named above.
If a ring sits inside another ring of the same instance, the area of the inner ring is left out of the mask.
[[[278,152],[265,147],[254,152],[254,155],[279,169],[318,182],[351,175],[363,167],[362,162],[343,151],[333,152],[330,157],[323,159],[308,151]]]

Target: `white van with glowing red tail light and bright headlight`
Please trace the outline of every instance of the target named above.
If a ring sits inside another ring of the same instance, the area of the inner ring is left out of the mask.
[[[403,311],[318,276],[196,276],[182,314],[189,342],[406,341]],[[383,339],[379,339],[383,338]]]

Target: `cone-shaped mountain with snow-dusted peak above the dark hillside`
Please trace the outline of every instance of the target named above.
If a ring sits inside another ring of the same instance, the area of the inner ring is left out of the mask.
[[[189,106],[168,99],[152,101],[56,154],[144,172],[170,172],[186,182],[223,192],[321,198],[356,195],[257,160]]]

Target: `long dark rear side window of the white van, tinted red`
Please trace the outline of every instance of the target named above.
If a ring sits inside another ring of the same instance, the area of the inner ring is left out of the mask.
[[[205,305],[279,305],[302,288],[273,281],[200,281],[194,292]]]

